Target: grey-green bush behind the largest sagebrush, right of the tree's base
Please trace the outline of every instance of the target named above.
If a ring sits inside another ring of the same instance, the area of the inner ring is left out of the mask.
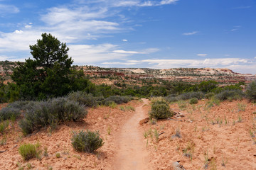
[[[77,101],[80,105],[84,105],[87,107],[95,107],[97,106],[97,100],[92,94],[87,94],[84,91],[76,91],[68,94],[68,99],[70,101]]]

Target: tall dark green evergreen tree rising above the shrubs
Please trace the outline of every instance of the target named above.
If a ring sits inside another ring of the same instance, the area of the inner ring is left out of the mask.
[[[68,47],[53,35],[43,33],[36,45],[30,45],[32,59],[18,62],[11,78],[20,86],[21,97],[43,99],[68,94],[73,60]]]

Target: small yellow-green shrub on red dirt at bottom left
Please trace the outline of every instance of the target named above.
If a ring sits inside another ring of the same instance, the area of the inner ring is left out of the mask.
[[[36,150],[36,146],[33,144],[23,144],[18,148],[18,153],[24,160],[29,160],[38,157],[39,152]]]

